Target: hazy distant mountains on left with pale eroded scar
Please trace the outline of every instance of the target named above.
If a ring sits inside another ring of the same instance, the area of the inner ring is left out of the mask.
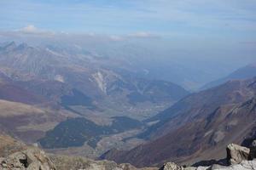
[[[79,115],[97,108],[95,112],[102,112],[103,116],[129,114],[143,119],[189,94],[172,82],[137,77],[113,64],[112,59],[67,52],[11,42],[0,48],[0,71],[20,88],[55,103],[67,106],[67,100],[70,103],[72,97],[76,98],[70,111]],[[78,109],[77,105],[84,108]]]

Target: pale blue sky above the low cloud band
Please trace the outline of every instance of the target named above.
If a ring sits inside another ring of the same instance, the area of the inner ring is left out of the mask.
[[[0,29],[256,37],[255,0],[2,0]],[[250,37],[250,38],[249,38]]]

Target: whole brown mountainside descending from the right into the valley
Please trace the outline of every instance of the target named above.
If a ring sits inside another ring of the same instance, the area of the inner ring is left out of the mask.
[[[192,163],[225,155],[256,127],[256,80],[227,82],[181,99],[159,115],[143,134],[152,139],[129,151],[109,150],[102,157],[138,167],[165,161]]]

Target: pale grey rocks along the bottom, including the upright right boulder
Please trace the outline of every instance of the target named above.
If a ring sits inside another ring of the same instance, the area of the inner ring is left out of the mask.
[[[247,148],[236,144],[229,144],[229,153],[236,160],[230,167],[214,164],[208,167],[182,167],[173,162],[167,162],[159,170],[248,170],[256,169],[256,160],[247,161],[240,159],[249,159],[244,156]],[[248,149],[249,150],[249,149]],[[47,156],[44,151],[38,148],[29,148],[23,151],[17,151],[6,158],[0,158],[1,170],[157,170],[157,167],[133,167],[131,164],[117,164],[114,161],[94,161],[79,156]]]

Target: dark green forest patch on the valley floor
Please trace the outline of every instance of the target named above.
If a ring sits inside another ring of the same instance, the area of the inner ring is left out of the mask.
[[[96,148],[102,136],[122,133],[127,130],[142,127],[142,123],[129,117],[113,117],[113,122],[108,126],[99,126],[85,118],[69,118],[58,124],[53,130],[46,133],[39,142],[44,148],[67,148],[82,146],[87,142]]]

